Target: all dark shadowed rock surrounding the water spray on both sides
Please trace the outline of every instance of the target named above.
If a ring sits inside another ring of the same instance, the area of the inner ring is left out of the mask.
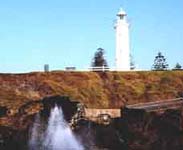
[[[57,104],[62,107],[67,120],[71,119],[77,105],[59,96],[45,98],[42,104],[41,116],[48,118],[50,109]],[[28,131],[33,118],[34,115],[25,119],[29,126],[23,130],[1,126],[0,149],[27,150]],[[109,125],[83,119],[74,132],[86,150],[182,150],[183,112],[167,110],[160,114],[124,109],[122,118],[113,119]]]

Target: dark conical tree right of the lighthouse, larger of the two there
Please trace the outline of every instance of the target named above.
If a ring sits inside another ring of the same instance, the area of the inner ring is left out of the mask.
[[[161,52],[159,52],[154,59],[152,70],[161,71],[161,70],[167,70],[167,69],[168,69],[168,64],[166,62],[166,58],[165,56],[162,55]]]

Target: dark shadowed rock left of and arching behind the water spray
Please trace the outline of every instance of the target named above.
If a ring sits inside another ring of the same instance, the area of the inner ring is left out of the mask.
[[[71,102],[68,97],[63,96],[47,97],[42,101],[26,103],[12,118],[15,122],[14,128],[0,126],[0,150],[28,150],[29,131],[36,114],[29,115],[26,113],[26,109],[35,104],[43,105],[43,109],[39,113],[45,120],[45,123],[47,123],[51,108],[55,105],[62,107],[66,120],[70,120],[77,109],[77,102]],[[32,111],[34,112],[34,110]],[[1,112],[3,115],[6,114],[4,108],[1,109]]]

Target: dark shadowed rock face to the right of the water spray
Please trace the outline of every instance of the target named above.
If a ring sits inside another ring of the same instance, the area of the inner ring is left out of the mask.
[[[158,114],[125,109],[123,118],[108,126],[85,121],[76,132],[90,145],[87,149],[93,144],[108,150],[182,150],[182,124],[181,110]]]

